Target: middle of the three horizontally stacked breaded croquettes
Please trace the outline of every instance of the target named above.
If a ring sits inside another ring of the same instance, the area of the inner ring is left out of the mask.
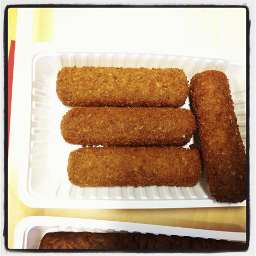
[[[60,128],[74,145],[185,145],[196,120],[183,108],[74,107],[62,117]]]

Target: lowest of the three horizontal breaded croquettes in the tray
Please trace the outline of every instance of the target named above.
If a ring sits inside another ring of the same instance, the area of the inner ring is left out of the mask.
[[[195,186],[199,150],[183,147],[85,147],[71,151],[68,177],[79,187]]]

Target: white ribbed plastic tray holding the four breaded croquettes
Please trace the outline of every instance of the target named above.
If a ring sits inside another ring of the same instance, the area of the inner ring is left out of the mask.
[[[66,143],[60,133],[60,121],[70,107],[57,97],[58,70],[65,66],[114,66],[147,68],[181,68],[188,80],[203,70],[226,73],[235,103],[235,112],[246,146],[246,68],[243,63],[197,57],[139,54],[93,53],[59,49],[52,44],[35,44],[28,57],[31,70],[23,78],[30,81],[28,148],[19,167],[18,194],[30,207],[49,208],[174,208],[244,206],[246,202],[217,203],[209,193],[205,174],[195,187],[86,187],[68,180],[70,151],[80,147]],[[26,104],[24,102],[23,104]],[[189,98],[183,108],[189,108]],[[20,124],[22,126],[22,124]],[[22,127],[20,127],[22,129]],[[190,143],[194,142],[194,137]],[[188,143],[185,147],[190,145]]]

